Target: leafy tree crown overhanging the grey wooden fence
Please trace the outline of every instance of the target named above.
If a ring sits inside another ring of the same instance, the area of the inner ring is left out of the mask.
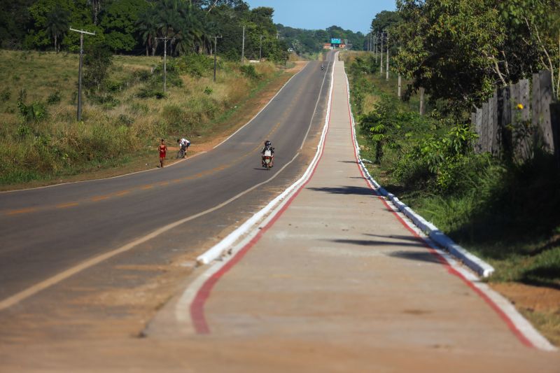
[[[470,112],[496,87],[541,70],[560,88],[557,0],[397,0],[372,20],[386,30],[393,71],[423,87],[440,108]],[[405,95],[406,97],[406,95]]]

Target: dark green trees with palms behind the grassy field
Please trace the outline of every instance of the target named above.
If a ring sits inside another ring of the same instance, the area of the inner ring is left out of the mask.
[[[2,48],[67,50],[79,48],[69,27],[95,32],[85,43],[104,45],[113,53],[173,56],[218,52],[283,61],[288,45],[277,38],[274,9],[249,8],[242,0],[5,0],[0,5]],[[215,36],[218,39],[215,49]]]

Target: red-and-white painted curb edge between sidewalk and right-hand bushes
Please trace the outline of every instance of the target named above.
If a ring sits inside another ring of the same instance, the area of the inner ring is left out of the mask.
[[[346,71],[344,71],[344,75],[346,76]],[[461,279],[469,288],[475,291],[479,297],[482,297],[486,304],[489,304],[489,306],[496,311],[496,314],[500,316],[500,318],[506,323],[507,327],[510,328],[522,344],[543,351],[557,351],[555,346],[550,344],[550,342],[548,342],[548,340],[543,337],[538,330],[536,330],[533,325],[526,320],[526,318],[519,314],[510,301],[505,299],[505,297],[496,291],[492,290],[488,285],[486,285],[486,283],[480,281],[477,275],[461,266],[461,264],[458,263],[451,255],[459,258],[463,264],[470,267],[470,269],[475,270],[475,272],[481,274],[483,277],[489,276],[494,271],[493,267],[480,258],[477,258],[475,255],[472,255],[472,253],[469,253],[464,248],[461,248],[461,246],[455,244],[449,237],[438,230],[435,225],[427,222],[424,218],[412,211],[412,209],[410,209],[407,205],[400,202],[397,197],[388,193],[381,187],[381,185],[379,185],[379,183],[374,181],[360,158],[360,148],[358,146],[358,139],[356,138],[356,123],[354,122],[351,111],[348,76],[346,76],[346,98],[348,101],[348,113],[350,117],[356,162],[358,163],[358,169],[367,182],[367,185],[374,190],[377,195],[379,195],[379,199],[384,202],[388,209],[393,211],[395,217],[407,228],[407,230],[409,230],[409,232],[414,234],[415,237],[422,239],[426,248],[428,248],[428,251],[435,255],[442,265],[447,267],[447,271],[450,274],[453,274]],[[425,233],[427,233],[428,236],[426,236]],[[446,248],[451,255],[438,248],[436,243]]]

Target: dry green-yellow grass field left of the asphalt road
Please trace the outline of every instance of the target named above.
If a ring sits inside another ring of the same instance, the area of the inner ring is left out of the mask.
[[[0,50],[0,187],[120,167],[160,138],[208,141],[286,71],[219,61],[214,83],[211,61],[203,62],[195,73],[169,73],[163,96],[161,57],[114,56],[102,89],[84,92],[76,122],[78,55]]]

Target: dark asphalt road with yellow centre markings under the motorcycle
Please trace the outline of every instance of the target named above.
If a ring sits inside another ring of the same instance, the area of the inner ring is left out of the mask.
[[[246,201],[265,203],[274,185],[288,183],[307,162],[302,143],[321,127],[330,85],[332,62],[325,71],[320,64],[309,62],[256,118],[208,153],[118,178],[0,193],[0,302],[180,220],[190,218],[177,239],[200,250],[251,216]],[[269,171],[260,168],[265,139],[276,148]],[[259,194],[265,188],[269,195]]]

